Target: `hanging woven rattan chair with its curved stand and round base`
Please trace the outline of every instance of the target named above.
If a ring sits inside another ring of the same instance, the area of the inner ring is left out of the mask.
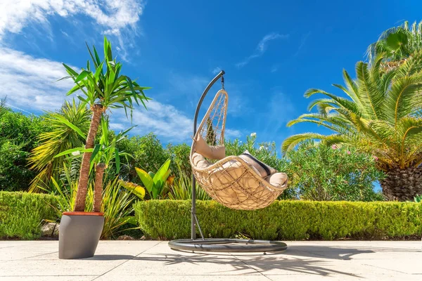
[[[257,252],[283,251],[287,246],[279,241],[239,240],[239,239],[205,239],[196,217],[196,181],[214,200],[231,209],[254,210],[267,207],[286,189],[286,183],[271,185],[260,176],[245,160],[238,156],[224,157],[220,160],[205,159],[196,152],[200,140],[208,145],[224,145],[224,128],[229,96],[224,90],[224,71],[217,74],[203,92],[193,120],[193,142],[190,162],[193,171],[191,239],[169,242],[172,249],[188,251],[235,251]],[[221,77],[222,89],[217,92],[205,116],[196,128],[200,106],[207,92]],[[196,239],[196,226],[202,237]]]

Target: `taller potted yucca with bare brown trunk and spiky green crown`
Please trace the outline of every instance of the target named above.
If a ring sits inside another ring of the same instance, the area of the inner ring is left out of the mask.
[[[72,93],[81,91],[82,96],[77,97],[79,100],[88,104],[92,111],[91,124],[89,125],[84,155],[82,156],[74,211],[84,211],[85,208],[91,155],[103,113],[111,108],[124,108],[126,115],[127,110],[129,109],[130,117],[132,117],[134,102],[137,105],[141,102],[143,106],[146,107],[144,101],[149,99],[143,93],[143,90],[148,88],[139,86],[136,81],[132,81],[129,77],[120,74],[122,63],[117,63],[116,59],[113,59],[111,44],[106,37],[104,37],[104,59],[102,61],[98,56],[95,46],[93,46],[94,54],[91,52],[88,45],[87,48],[95,67],[94,71],[91,71],[89,60],[87,69],[82,69],[79,73],[63,63],[63,66],[69,74],[68,77],[63,77],[63,79],[70,78],[75,81],[76,84],[67,94],[71,95]],[[98,166],[98,164],[96,169],[98,169],[98,171],[96,172],[96,184],[94,186],[99,187],[102,186],[101,181],[104,169],[102,165]],[[97,198],[101,197],[100,190],[97,189],[95,192]]]

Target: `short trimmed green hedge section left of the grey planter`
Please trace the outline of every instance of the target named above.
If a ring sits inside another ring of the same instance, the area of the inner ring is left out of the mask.
[[[0,192],[0,238],[32,240],[41,236],[41,221],[56,219],[56,197],[25,192]]]

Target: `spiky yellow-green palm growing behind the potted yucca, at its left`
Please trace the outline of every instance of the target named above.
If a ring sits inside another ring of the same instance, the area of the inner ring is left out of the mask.
[[[83,145],[89,129],[90,111],[85,103],[66,101],[57,112],[47,112],[45,121],[51,131],[39,136],[40,145],[32,150],[29,157],[30,169],[38,171],[32,180],[30,192],[39,191],[39,186],[48,186],[54,171],[63,167],[65,157],[55,157],[58,153]]]

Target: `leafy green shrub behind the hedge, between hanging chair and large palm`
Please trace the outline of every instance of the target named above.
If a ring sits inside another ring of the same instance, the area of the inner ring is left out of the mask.
[[[373,191],[383,172],[376,169],[373,157],[354,148],[307,141],[287,152],[281,170],[289,176],[290,190],[305,200],[383,200],[381,193]]]

